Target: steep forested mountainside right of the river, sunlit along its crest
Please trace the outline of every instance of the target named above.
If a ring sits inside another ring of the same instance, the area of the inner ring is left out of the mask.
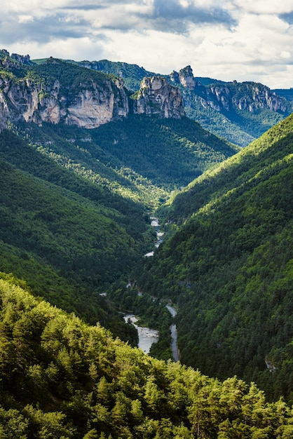
[[[293,400],[293,116],[178,194],[182,223],[137,269],[178,306],[183,363]],[[174,227],[174,225],[172,226]]]

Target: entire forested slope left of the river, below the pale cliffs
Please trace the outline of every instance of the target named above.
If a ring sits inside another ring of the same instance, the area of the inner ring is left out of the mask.
[[[133,116],[96,130],[4,130],[1,270],[119,333],[99,294],[152,247],[150,212],[176,184],[236,151],[193,121],[177,122]]]

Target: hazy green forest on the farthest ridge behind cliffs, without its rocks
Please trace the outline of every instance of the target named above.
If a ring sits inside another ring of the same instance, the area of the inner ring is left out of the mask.
[[[158,75],[158,73],[148,72],[143,67],[127,64],[126,62],[111,62],[109,60],[81,61],[79,65],[90,69],[97,69],[107,74],[121,76],[125,82],[125,87],[128,90],[132,90],[132,92],[139,90],[140,82],[144,77]],[[273,111],[266,107],[264,98],[269,89],[259,83],[224,82],[217,79],[195,76],[196,88],[190,90],[182,86],[180,82],[175,83],[172,81],[171,75],[159,74],[159,76],[165,77],[173,86],[179,87],[184,100],[186,115],[190,119],[200,123],[200,126],[210,131],[210,133],[223,137],[240,147],[246,147],[247,144],[257,139],[266,130],[274,126],[275,123],[278,123],[292,112],[292,90],[271,90],[276,95],[285,98],[282,104],[282,111]],[[217,96],[210,92],[211,87],[225,87],[229,90],[226,98],[229,97],[231,100],[240,99],[247,103],[252,102],[252,96],[255,94],[255,90],[258,89],[261,94],[260,107],[264,105],[264,108],[254,108],[254,111],[250,112],[247,109],[233,107],[230,102],[230,108],[227,110],[219,102]],[[209,101],[209,104],[206,102],[203,104],[202,100]],[[213,102],[213,107],[210,106],[211,102]],[[216,109],[217,107],[220,108]]]

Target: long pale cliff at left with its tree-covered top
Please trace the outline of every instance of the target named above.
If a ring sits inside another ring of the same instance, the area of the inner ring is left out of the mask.
[[[95,128],[128,115],[126,90],[113,77],[53,58],[37,66],[9,57],[0,62],[2,125],[33,121]]]

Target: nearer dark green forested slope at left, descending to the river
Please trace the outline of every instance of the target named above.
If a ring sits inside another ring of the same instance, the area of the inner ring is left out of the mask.
[[[99,294],[151,245],[147,210],[58,166],[9,131],[0,135],[0,161],[1,270],[119,333],[120,318]]]

